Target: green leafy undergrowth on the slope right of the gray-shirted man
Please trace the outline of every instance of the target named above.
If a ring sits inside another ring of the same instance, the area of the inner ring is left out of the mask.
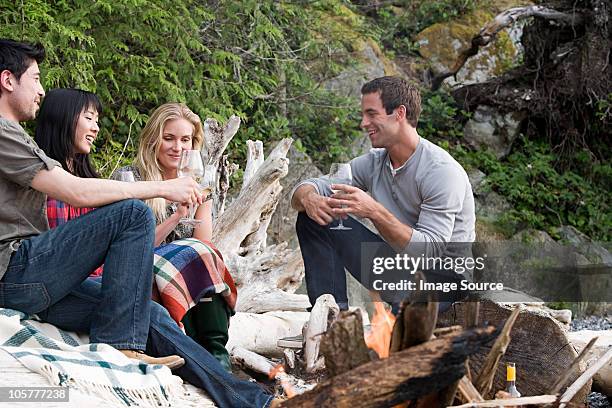
[[[556,227],[572,225],[593,239],[609,241],[612,232],[610,180],[612,167],[575,156],[578,169],[559,172],[549,145],[521,137],[514,152],[499,161],[490,152],[455,148],[454,156],[466,166],[487,173],[491,188],[508,199],[513,208],[502,225],[516,232],[525,227],[547,231],[556,237]]]

